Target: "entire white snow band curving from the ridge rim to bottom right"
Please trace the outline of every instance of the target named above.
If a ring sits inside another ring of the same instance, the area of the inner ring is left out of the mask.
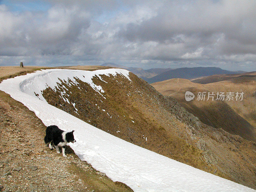
[[[113,181],[121,181],[135,192],[255,191],[121,140],[53,107],[42,96],[39,100],[34,93],[40,94],[47,85],[54,88],[58,77],[72,80],[74,76],[100,91],[102,88],[92,83],[92,76],[116,73],[129,79],[129,72],[124,69],[82,72],[50,69],[4,80],[0,89],[34,111],[46,126],[55,124],[65,131],[75,130],[77,142],[70,143],[75,153]]]

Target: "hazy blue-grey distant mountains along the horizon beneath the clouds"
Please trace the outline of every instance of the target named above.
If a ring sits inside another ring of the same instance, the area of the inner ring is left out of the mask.
[[[143,68],[126,67],[115,63],[104,63],[102,66],[123,68],[131,71],[138,77],[146,80],[149,84],[173,78],[193,79],[197,77],[211,76],[216,74],[239,74],[245,71],[228,71],[217,67],[194,67],[194,68]]]

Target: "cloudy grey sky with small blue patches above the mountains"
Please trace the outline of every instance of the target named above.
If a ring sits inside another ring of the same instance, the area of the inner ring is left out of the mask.
[[[256,71],[256,1],[0,0],[0,65]]]

